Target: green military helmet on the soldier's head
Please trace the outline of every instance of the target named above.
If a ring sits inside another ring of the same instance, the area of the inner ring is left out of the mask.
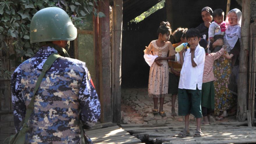
[[[30,24],[30,43],[55,40],[74,40],[77,28],[67,13],[57,7],[39,10]]]

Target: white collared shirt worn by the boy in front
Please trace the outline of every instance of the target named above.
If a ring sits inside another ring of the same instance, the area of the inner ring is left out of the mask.
[[[202,79],[205,64],[205,49],[199,44],[195,48],[195,58],[193,60],[196,66],[192,66],[191,52],[188,49],[184,56],[184,63],[180,72],[179,88],[196,90],[196,85],[199,90],[202,89]]]

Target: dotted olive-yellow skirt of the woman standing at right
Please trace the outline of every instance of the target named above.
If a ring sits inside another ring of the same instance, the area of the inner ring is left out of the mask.
[[[214,61],[214,89],[215,89],[215,107],[214,113],[220,114],[220,111],[230,109],[234,106],[236,100],[228,89],[228,83],[231,74],[231,60],[223,58]]]

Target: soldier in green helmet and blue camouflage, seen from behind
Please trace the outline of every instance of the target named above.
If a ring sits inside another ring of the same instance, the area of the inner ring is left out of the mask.
[[[51,7],[38,11],[31,20],[30,42],[51,42],[17,67],[11,78],[16,131],[25,117],[42,66],[52,53],[63,54],[77,29],[67,13]],[[58,50],[57,50],[58,49]],[[26,143],[81,143],[79,120],[90,128],[99,119],[100,103],[84,62],[58,58],[46,72],[35,94]]]

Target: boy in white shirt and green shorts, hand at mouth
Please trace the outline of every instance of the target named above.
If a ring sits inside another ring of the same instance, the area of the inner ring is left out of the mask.
[[[183,58],[183,51],[179,53],[182,70],[180,72],[178,89],[178,113],[185,116],[185,128],[177,136],[189,136],[189,118],[193,114],[197,121],[194,137],[202,137],[201,131],[201,97],[202,78],[205,63],[205,50],[198,43],[200,32],[197,29],[189,29],[186,38],[190,45]]]

